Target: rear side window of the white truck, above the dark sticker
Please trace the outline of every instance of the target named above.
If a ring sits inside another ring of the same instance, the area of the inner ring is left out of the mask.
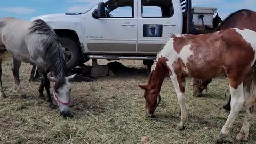
[[[141,0],[142,17],[172,17],[173,5],[171,0]]]

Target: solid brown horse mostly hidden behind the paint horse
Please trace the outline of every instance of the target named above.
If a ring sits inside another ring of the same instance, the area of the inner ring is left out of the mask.
[[[225,30],[228,28],[241,27],[256,31],[256,12],[251,10],[239,10],[231,13],[216,29]],[[204,89],[207,90],[207,85],[211,82],[210,80],[194,79],[193,90],[196,97],[201,97]],[[227,105],[223,106],[224,109],[230,111],[230,99]]]

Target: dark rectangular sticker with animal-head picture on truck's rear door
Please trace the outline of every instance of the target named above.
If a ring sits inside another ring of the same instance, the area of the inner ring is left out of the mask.
[[[143,37],[163,37],[163,25],[143,25]]]

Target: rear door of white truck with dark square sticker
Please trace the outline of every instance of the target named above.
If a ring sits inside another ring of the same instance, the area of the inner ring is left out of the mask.
[[[176,0],[138,0],[137,53],[156,54],[172,34],[180,33],[182,11]]]

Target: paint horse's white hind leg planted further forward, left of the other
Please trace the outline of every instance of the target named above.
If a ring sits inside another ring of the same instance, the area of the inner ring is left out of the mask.
[[[231,93],[231,111],[220,133],[214,137],[214,143],[222,142],[222,139],[228,136],[230,129],[245,102],[243,93],[243,83],[241,83],[236,89],[233,88],[231,85],[229,85],[229,87]]]

